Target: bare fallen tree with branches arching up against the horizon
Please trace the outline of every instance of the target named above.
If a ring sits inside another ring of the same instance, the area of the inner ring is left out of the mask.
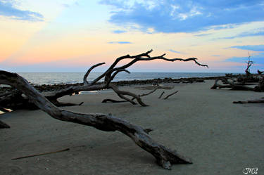
[[[51,103],[54,103],[54,105],[56,105],[56,106],[80,105],[81,103],[80,104],[61,103],[58,101],[58,98],[61,98],[62,96],[66,96],[66,95],[72,95],[74,93],[79,93],[80,91],[99,91],[99,90],[103,90],[103,89],[113,89],[113,91],[115,91],[115,93],[117,93],[117,95],[120,98],[122,98],[122,100],[130,102],[133,105],[139,104],[142,106],[147,106],[146,103],[144,103],[142,101],[142,98],[139,95],[137,95],[135,93],[131,93],[129,91],[120,91],[118,86],[116,86],[115,84],[112,83],[113,79],[115,78],[115,76],[119,72],[130,73],[127,70],[127,67],[130,67],[131,65],[133,65],[134,63],[137,63],[138,61],[149,61],[149,60],[165,60],[165,61],[170,61],[170,62],[194,61],[194,63],[196,63],[199,66],[208,67],[208,65],[202,65],[202,64],[198,63],[197,58],[187,58],[187,59],[172,58],[172,59],[169,59],[169,58],[164,57],[165,54],[163,54],[161,56],[151,57],[151,56],[149,56],[149,53],[151,53],[152,51],[153,50],[151,49],[150,51],[147,51],[146,53],[141,53],[141,54],[136,55],[136,56],[126,55],[126,56],[121,56],[119,58],[116,58],[115,62],[110,67],[108,67],[108,69],[105,72],[103,72],[99,77],[94,79],[92,82],[88,82],[87,78],[89,77],[90,72],[92,72],[92,70],[94,70],[94,68],[96,68],[100,65],[103,65],[105,63],[99,63],[96,65],[93,65],[84,74],[83,84],[81,84],[79,86],[69,86],[68,88],[61,89],[58,91],[48,91],[48,92],[45,91],[45,92],[42,92],[42,95],[44,95],[49,101],[51,101]],[[125,60],[125,59],[131,60],[131,61],[125,65],[117,67],[118,63],[120,63],[121,60]],[[101,79],[103,79],[103,82],[99,82]],[[18,103],[16,103],[16,102],[18,102]],[[37,108],[37,106],[34,105],[33,103],[31,103],[29,101],[29,99],[27,98],[27,96],[23,96],[23,94],[21,92],[16,94],[16,96],[10,96],[10,95],[1,96],[1,94],[0,94],[0,107],[1,108],[8,108],[11,110],[15,110],[18,108]]]

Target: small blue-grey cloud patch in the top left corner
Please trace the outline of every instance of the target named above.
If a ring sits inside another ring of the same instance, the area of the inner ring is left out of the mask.
[[[14,20],[42,21],[43,15],[33,11],[22,11],[13,6],[13,1],[0,1],[0,15]]]

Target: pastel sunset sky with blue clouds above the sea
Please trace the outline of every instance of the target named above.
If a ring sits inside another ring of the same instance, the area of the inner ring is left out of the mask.
[[[130,72],[244,72],[249,56],[263,71],[264,1],[0,0],[0,70],[103,72],[151,48],[209,68],[152,60]]]

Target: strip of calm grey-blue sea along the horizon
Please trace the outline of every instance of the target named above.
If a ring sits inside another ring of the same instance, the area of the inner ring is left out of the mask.
[[[81,83],[84,76],[84,72],[20,72],[18,73],[27,81],[33,84],[73,84]],[[88,81],[92,81],[98,77],[100,72],[91,72],[88,77]],[[215,77],[225,76],[225,73],[188,73],[188,72],[132,72],[127,74],[120,72],[114,82],[122,80],[134,80],[134,79],[156,79],[156,78],[187,78],[187,77]],[[101,79],[103,81],[103,79]]]

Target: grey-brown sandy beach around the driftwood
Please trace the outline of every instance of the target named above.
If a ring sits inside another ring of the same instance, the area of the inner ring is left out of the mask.
[[[264,174],[264,104],[233,104],[260,98],[253,91],[211,90],[213,81],[167,84],[178,90],[167,100],[158,99],[162,89],[142,97],[149,107],[130,103],[101,103],[118,97],[112,91],[64,96],[61,101],[80,103],[65,107],[76,112],[103,112],[152,128],[151,137],[194,164],[159,167],[149,153],[119,132],[61,122],[41,110],[18,110],[0,115],[11,129],[0,130],[0,174],[243,174],[258,168]],[[143,86],[143,85],[142,85]],[[141,87],[142,87],[141,86]],[[144,85],[146,86],[146,85]],[[125,86],[136,93],[146,93]],[[15,157],[70,150],[11,160]]]

